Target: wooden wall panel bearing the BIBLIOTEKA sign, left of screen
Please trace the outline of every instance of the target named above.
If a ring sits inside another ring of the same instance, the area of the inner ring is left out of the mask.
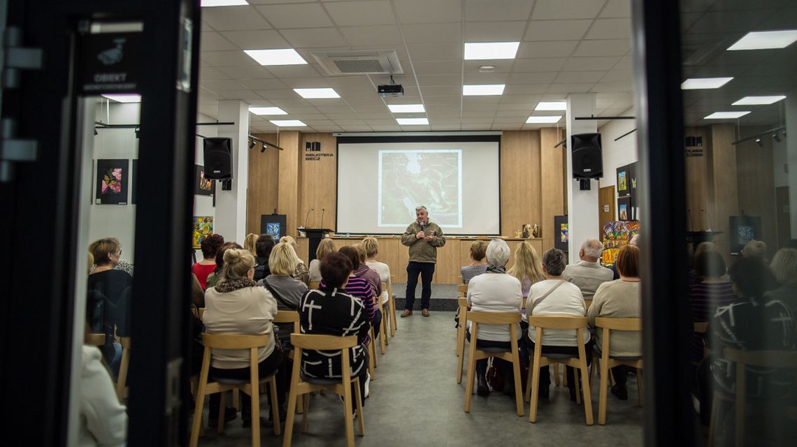
[[[305,143],[318,142],[320,152],[305,151]],[[336,138],[331,133],[302,134],[300,142],[300,208],[299,216],[304,219],[309,214],[308,228],[335,229],[336,194],[337,194],[337,146]],[[332,154],[322,156],[318,154]],[[316,159],[317,158],[317,159]],[[322,211],[323,210],[323,211]],[[324,222],[321,222],[321,218]],[[304,220],[300,225],[305,225]]]

